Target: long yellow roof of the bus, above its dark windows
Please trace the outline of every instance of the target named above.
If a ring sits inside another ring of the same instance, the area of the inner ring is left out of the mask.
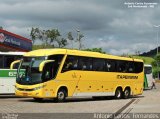
[[[49,56],[54,54],[68,54],[68,55],[75,55],[75,56],[87,56],[87,57],[98,57],[98,58],[108,58],[108,59],[119,59],[119,60],[129,60],[129,61],[140,61],[143,62],[141,59],[134,59],[128,57],[120,57],[108,54],[102,54],[98,52],[91,52],[91,51],[80,51],[80,50],[72,50],[72,49],[39,49],[27,52],[24,56]]]

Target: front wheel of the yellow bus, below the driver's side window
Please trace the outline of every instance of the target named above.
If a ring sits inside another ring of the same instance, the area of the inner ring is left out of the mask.
[[[67,96],[66,91],[64,89],[60,89],[60,90],[58,90],[56,101],[57,102],[64,102],[66,99],[66,96]]]

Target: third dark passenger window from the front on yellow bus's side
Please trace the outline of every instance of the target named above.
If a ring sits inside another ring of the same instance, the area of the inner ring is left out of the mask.
[[[104,71],[105,60],[93,58],[93,71]]]

